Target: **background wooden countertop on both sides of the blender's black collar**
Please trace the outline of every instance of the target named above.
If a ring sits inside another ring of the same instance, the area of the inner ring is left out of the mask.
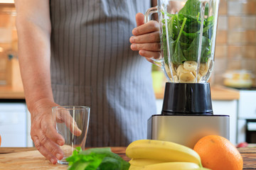
[[[210,94],[213,101],[233,101],[240,98],[238,90],[231,89],[225,86],[210,86]],[[164,88],[159,93],[155,93],[157,99],[164,98]]]

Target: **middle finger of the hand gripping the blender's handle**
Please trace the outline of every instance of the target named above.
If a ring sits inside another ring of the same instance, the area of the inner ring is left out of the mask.
[[[146,35],[132,36],[129,40],[131,43],[160,42],[159,31]]]

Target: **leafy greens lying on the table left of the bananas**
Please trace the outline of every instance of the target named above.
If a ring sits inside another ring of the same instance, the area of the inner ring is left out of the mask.
[[[76,148],[66,160],[68,170],[128,170],[129,162],[124,161],[118,154],[111,152],[109,147],[92,148],[82,151]]]

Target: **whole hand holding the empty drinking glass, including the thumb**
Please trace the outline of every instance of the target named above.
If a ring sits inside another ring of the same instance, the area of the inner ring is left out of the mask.
[[[64,153],[59,146],[64,145],[64,138],[57,132],[56,123],[65,123],[70,132],[80,136],[82,131],[73,120],[68,111],[62,110],[56,115],[52,108],[58,106],[48,100],[41,100],[35,103],[35,109],[31,112],[31,138],[36,149],[53,164],[57,159],[63,159]]]

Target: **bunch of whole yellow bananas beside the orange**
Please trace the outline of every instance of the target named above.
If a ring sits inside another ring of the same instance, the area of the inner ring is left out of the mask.
[[[199,155],[191,148],[174,142],[136,140],[126,150],[131,166],[139,169],[204,169]]]

